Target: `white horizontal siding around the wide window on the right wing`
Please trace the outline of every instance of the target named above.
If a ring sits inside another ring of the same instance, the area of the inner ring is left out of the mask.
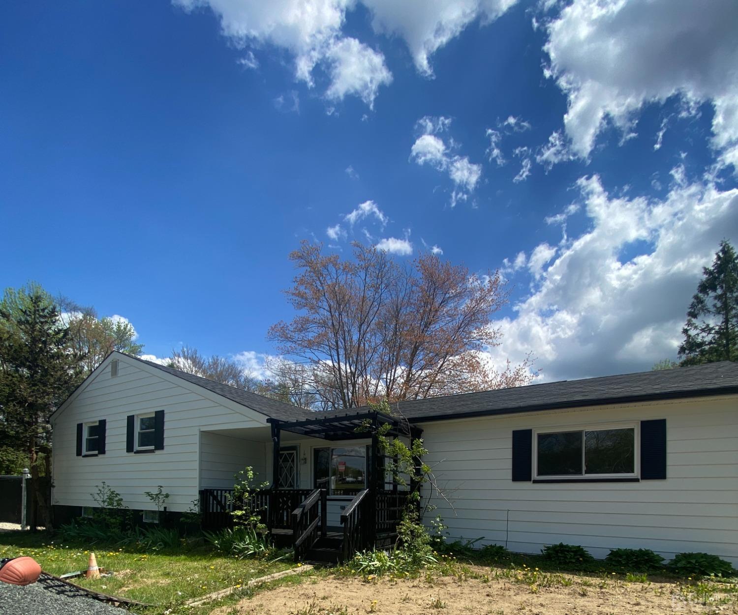
[[[667,479],[641,482],[511,481],[514,429],[561,429],[666,418]],[[450,540],[536,553],[580,544],[596,557],[615,547],[670,558],[703,551],[738,563],[738,412],[735,397],[426,423],[424,461],[455,510],[433,503]],[[438,465],[436,465],[438,464]]]

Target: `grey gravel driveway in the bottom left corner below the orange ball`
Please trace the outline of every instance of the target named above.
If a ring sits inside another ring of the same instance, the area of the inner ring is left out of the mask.
[[[0,582],[1,615],[126,615],[130,611],[98,602],[74,588],[46,588],[44,580],[28,586]]]

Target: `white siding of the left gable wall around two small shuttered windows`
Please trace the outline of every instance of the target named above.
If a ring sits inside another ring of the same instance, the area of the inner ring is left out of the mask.
[[[199,491],[200,428],[263,427],[266,417],[180,378],[119,358],[118,375],[103,364],[97,375],[72,397],[53,423],[54,504],[93,506],[91,493],[105,481],[132,509],[155,506],[145,491],[161,484],[170,494],[166,506],[182,512]],[[228,407],[229,404],[235,407]],[[125,451],[126,417],[165,411],[165,448],[151,454]],[[75,454],[77,423],[106,419],[106,454],[94,458]]]

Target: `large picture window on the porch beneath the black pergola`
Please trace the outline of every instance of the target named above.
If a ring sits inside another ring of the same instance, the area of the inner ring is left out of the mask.
[[[367,486],[367,446],[314,449],[314,487],[329,496],[355,496]]]

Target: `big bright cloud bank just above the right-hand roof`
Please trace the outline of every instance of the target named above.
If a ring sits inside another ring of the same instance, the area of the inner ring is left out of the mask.
[[[577,187],[590,227],[559,247],[517,315],[494,323],[504,333],[494,361],[532,351],[544,378],[559,380],[676,358],[703,266],[738,236],[738,189],[685,184],[658,201],[610,196],[598,176]],[[543,259],[552,248],[542,246]]]

